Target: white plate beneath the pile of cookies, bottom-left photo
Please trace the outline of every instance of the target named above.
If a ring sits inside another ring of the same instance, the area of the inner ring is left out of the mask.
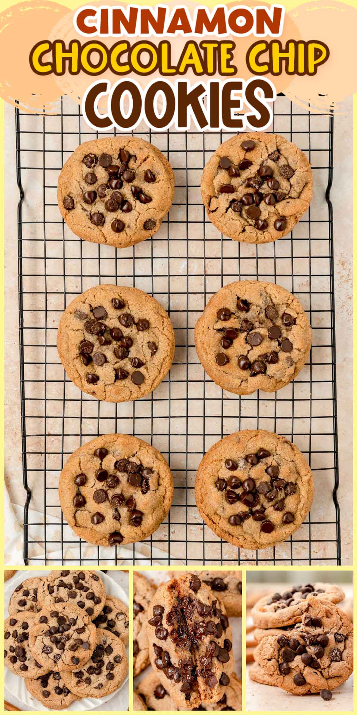
[[[116,598],[120,598],[123,603],[126,604],[126,606],[129,606],[129,598],[126,596],[126,593],[124,591],[124,588],[121,588],[119,586],[119,583],[116,583],[113,578],[108,576],[107,573],[102,573],[101,571],[98,571],[99,576],[101,577],[104,587],[106,589],[106,593],[109,596],[116,596]],[[116,573],[120,573],[116,571]],[[34,576],[44,576],[44,571],[18,571],[16,574],[16,577],[11,579],[11,583],[9,583],[9,586],[5,590],[4,594],[4,606],[5,606],[5,618],[8,617],[8,606],[9,606],[9,601],[10,601],[10,596],[12,593],[14,593],[14,590],[16,586],[19,586],[19,583],[22,583],[22,581],[25,581],[26,578],[34,578]],[[126,574],[127,576],[127,574]],[[111,698],[114,697],[114,695],[118,696],[121,689],[123,688],[124,684],[128,681],[129,676],[126,675],[126,679],[123,681],[121,686],[119,687],[118,690],[114,691],[111,695],[108,695],[104,698],[82,698],[81,700],[75,700],[71,705],[66,708],[66,710],[71,710],[74,712],[78,711],[86,711],[86,710],[93,710],[94,708],[98,708],[99,705],[103,705],[104,703],[108,702],[111,700]],[[18,698],[21,703],[24,703],[24,705],[29,706],[31,709],[34,708],[35,710],[42,710],[45,712],[49,712],[49,709],[46,708],[44,705],[39,703],[38,700],[36,700],[33,696],[29,694],[29,691],[26,689],[25,686],[25,679],[24,678],[19,678],[19,676],[16,676],[14,673],[11,673],[8,668],[5,668],[5,679],[4,679],[4,685],[6,690],[9,691],[12,695],[14,695],[16,698]],[[127,710],[128,709],[128,693],[127,693],[127,688],[125,689],[125,693],[123,693],[123,696],[121,698],[122,702],[118,702],[118,706],[116,706],[116,710]],[[26,710],[26,708],[25,708]]]

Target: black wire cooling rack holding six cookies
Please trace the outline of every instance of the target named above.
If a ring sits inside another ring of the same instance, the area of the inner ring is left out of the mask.
[[[122,551],[88,548],[64,521],[59,473],[79,445],[98,434],[130,433],[154,444],[174,473],[168,518],[146,541],[126,547],[125,563],[339,564],[336,350],[333,295],[333,117],[276,99],[272,132],[298,144],[313,167],[311,207],[291,235],[253,246],[219,234],[205,217],[203,165],[226,132],[154,133],[138,127],[168,157],[176,177],[174,204],[150,240],[126,250],[74,236],[56,202],[59,172],[94,132],[64,97],[56,116],[16,109],[20,200],[19,337],[25,563],[123,563]],[[98,136],[98,134],[97,134]],[[100,136],[100,135],[99,135]],[[233,280],[276,282],[301,300],[313,327],[311,355],[296,380],[278,393],[224,393],[203,372],[193,327],[209,297]],[[176,333],[171,372],[134,403],[99,403],[66,377],[56,328],[66,305],[101,282],[135,285],[169,312]],[[202,522],[194,499],[196,468],[208,448],[233,431],[265,428],[293,440],[313,470],[311,513],[285,543],[239,550]],[[109,554],[109,556],[108,556]]]

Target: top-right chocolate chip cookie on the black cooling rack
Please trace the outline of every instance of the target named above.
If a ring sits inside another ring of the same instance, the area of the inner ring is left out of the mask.
[[[225,236],[268,243],[286,236],[308,209],[313,175],[305,154],[279,134],[237,134],[203,169],[209,220]]]

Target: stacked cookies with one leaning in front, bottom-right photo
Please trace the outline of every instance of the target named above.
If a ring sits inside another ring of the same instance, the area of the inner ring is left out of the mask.
[[[306,583],[260,598],[251,610],[251,680],[330,700],[353,672],[353,624],[336,605],[344,597],[339,586]]]

